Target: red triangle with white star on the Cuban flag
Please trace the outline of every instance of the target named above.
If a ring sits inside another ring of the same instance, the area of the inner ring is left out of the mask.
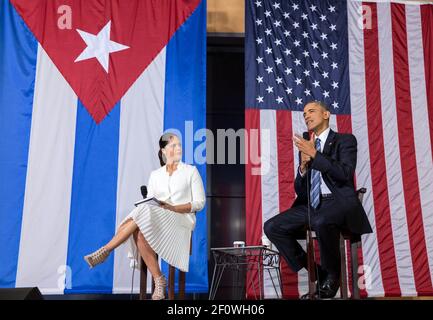
[[[200,0],[11,2],[95,122],[100,123]],[[65,19],[65,8],[70,28],[60,23]]]

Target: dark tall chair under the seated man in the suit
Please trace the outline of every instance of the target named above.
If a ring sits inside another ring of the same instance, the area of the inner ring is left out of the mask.
[[[364,194],[367,192],[366,188],[360,188],[356,191],[359,200],[362,203]],[[304,237],[298,237],[302,239]],[[316,289],[316,270],[314,262],[314,239],[316,239],[315,232],[307,229],[305,238],[307,240],[307,269],[308,269],[308,290],[310,299],[314,299],[314,292]],[[340,234],[340,263],[341,263],[341,275],[340,275],[340,296],[342,299],[348,298],[347,292],[347,261],[346,261],[346,246],[345,241],[348,240],[350,243],[350,254],[351,254],[351,270],[352,275],[352,299],[359,299],[359,287],[358,287],[358,248],[361,247],[361,236],[359,234],[353,234],[347,230],[342,230]]]

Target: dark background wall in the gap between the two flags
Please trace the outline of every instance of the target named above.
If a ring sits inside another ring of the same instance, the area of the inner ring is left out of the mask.
[[[244,38],[208,36],[207,40],[206,121],[215,137],[216,162],[217,130],[245,127]],[[226,145],[226,164],[207,165],[209,285],[214,267],[210,248],[245,241],[245,167],[239,161],[239,139],[236,164],[227,164],[227,149]],[[240,283],[233,281],[232,273],[226,272],[216,298],[236,298],[234,287]]]

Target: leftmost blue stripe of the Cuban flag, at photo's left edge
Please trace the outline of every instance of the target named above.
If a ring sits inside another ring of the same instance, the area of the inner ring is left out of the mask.
[[[38,43],[9,1],[0,7],[0,287],[15,287]]]

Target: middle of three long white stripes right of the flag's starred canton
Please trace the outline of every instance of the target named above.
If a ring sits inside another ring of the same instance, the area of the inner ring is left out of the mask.
[[[409,246],[406,206],[398,143],[398,125],[394,91],[391,6],[377,4],[379,36],[380,94],[383,120],[386,177],[388,184],[391,227],[400,289],[403,295],[416,294]]]

